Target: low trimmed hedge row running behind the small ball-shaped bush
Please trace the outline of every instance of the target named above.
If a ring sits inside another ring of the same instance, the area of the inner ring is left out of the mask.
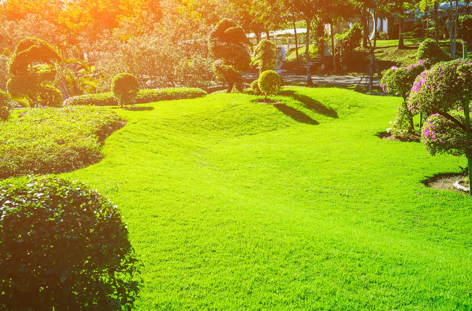
[[[207,95],[198,88],[167,88],[139,90],[135,104],[147,104],[160,100],[198,98]],[[118,100],[112,92],[79,95],[64,100],[64,106],[94,105],[94,106],[118,106]]]

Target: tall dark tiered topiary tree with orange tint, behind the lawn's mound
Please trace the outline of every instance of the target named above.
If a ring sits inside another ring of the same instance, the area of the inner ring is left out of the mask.
[[[249,68],[251,57],[247,52],[250,44],[243,28],[235,22],[224,18],[210,33],[208,49],[218,58],[213,65],[213,71],[217,78],[228,85],[227,92],[243,89],[243,77],[240,72]],[[274,53],[275,55],[275,53]]]

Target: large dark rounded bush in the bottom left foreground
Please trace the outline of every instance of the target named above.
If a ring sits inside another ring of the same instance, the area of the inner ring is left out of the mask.
[[[131,310],[139,266],[116,206],[56,176],[0,182],[0,310]]]

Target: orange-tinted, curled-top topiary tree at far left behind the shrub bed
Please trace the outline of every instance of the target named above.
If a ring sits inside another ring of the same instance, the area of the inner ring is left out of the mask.
[[[58,53],[47,42],[37,38],[23,39],[9,62],[8,92],[12,96],[28,98],[31,108],[38,103],[45,106],[50,104],[50,101],[44,102],[38,96],[40,92],[43,98],[44,94],[57,95],[59,90],[52,86],[52,82],[57,74],[55,62],[59,60]],[[53,106],[58,102],[55,101]]]

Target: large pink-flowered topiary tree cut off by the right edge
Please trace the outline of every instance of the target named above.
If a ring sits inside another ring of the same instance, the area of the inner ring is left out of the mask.
[[[430,115],[422,128],[421,141],[426,150],[431,155],[465,155],[469,180],[472,180],[471,99],[472,61],[465,59],[440,62],[425,70],[416,78],[408,99],[408,109],[413,114]]]

